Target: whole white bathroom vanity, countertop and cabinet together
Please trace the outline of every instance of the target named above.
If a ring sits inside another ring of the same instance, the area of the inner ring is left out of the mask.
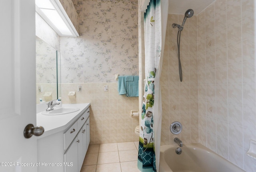
[[[37,113],[38,172],[80,172],[90,143],[90,104],[63,104],[80,110],[61,115]]]

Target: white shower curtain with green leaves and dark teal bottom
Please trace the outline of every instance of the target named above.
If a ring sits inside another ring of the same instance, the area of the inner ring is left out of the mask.
[[[138,169],[158,172],[162,104],[160,74],[168,16],[168,0],[150,0],[144,13],[145,87],[142,103]]]

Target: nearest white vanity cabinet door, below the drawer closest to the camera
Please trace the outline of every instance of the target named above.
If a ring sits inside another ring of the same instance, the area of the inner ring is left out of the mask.
[[[64,154],[64,172],[78,172],[78,144],[77,138],[70,145],[69,149]]]

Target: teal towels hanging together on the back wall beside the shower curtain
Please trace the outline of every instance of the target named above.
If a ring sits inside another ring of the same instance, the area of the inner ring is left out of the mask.
[[[118,76],[118,93],[127,97],[139,96],[139,76]]]

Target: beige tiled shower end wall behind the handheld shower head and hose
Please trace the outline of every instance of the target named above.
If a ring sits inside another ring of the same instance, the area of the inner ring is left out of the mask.
[[[184,15],[168,14],[164,60],[161,73],[162,133],[161,145],[175,144],[178,137],[185,144],[198,142],[198,74],[196,16],[188,18],[181,33],[180,60],[183,81],[178,71],[177,28],[172,23],[182,23]],[[170,132],[170,124],[179,121],[181,134]]]

